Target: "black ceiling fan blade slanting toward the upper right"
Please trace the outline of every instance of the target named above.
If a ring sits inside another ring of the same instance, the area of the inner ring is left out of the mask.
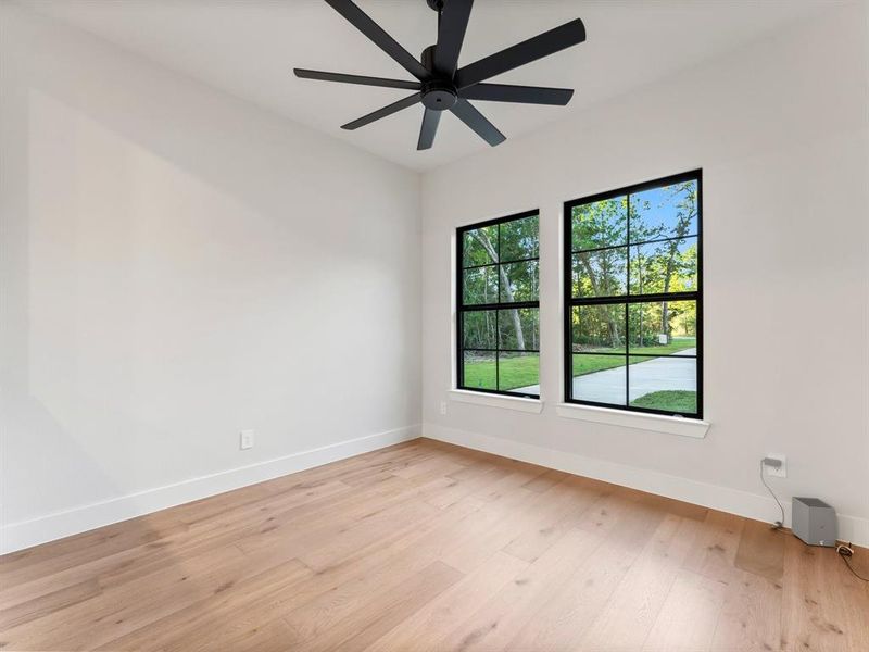
[[[531,63],[570,46],[581,43],[584,40],[585,26],[582,21],[579,18],[570,21],[561,27],[539,34],[533,38],[458,68],[455,74],[455,85],[459,89],[466,88],[471,84],[506,73],[526,63]]]

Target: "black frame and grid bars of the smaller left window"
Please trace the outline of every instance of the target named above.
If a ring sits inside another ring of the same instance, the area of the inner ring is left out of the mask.
[[[492,265],[508,265],[511,263],[518,263],[525,261],[537,261],[538,262],[538,274],[540,274],[540,210],[534,209],[530,211],[522,211],[521,213],[514,213],[512,215],[505,215],[504,217],[495,217],[493,220],[486,220],[483,222],[476,222],[474,224],[467,224],[464,226],[459,226],[456,228],[456,267],[455,267],[455,301],[456,301],[456,342],[455,342],[455,353],[456,353],[456,389],[465,390],[465,391],[475,391],[480,393],[487,394],[495,394],[502,397],[518,397],[525,399],[539,399],[540,394],[536,393],[526,393],[519,391],[512,391],[512,390],[501,390],[501,389],[486,389],[481,387],[466,387],[465,386],[465,365],[464,365],[464,315],[468,312],[477,312],[477,311],[487,311],[493,310],[495,311],[495,319],[498,319],[498,313],[502,310],[509,310],[509,309],[537,309],[538,310],[538,329],[540,328],[540,277],[538,276],[538,294],[537,301],[514,301],[513,303],[505,303],[501,301],[501,277],[498,276],[498,287],[499,287],[499,301],[496,303],[474,303],[470,305],[465,305],[464,303],[464,271],[475,268],[475,267],[465,267],[463,265],[463,261],[465,258],[465,234],[467,231],[476,230],[478,228],[487,227],[487,226],[498,226],[501,224],[505,224],[507,222],[514,222],[516,220],[525,220],[526,217],[534,217],[538,218],[538,252],[537,256],[527,258],[527,259],[518,259],[518,260],[511,260],[511,261],[500,261],[498,263],[493,263]],[[499,230],[499,234],[501,231]],[[478,266],[490,266],[490,265],[478,265]],[[498,322],[495,322],[498,324]],[[495,330],[498,330],[498,326],[495,326]],[[495,387],[500,384],[500,374],[499,374],[499,356],[500,352],[517,352],[517,353],[537,353],[538,354],[538,387],[540,386],[540,348],[538,349],[526,349],[525,351],[514,351],[513,349],[501,349],[500,343],[495,342],[495,349],[492,352],[495,354]],[[489,351],[489,349],[468,349],[469,351]]]

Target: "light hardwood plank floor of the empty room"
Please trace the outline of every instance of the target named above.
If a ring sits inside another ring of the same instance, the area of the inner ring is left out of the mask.
[[[1,557],[0,648],[866,652],[869,588],[763,523],[418,439]]]

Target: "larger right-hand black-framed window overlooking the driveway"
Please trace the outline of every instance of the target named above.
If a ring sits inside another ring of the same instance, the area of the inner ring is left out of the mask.
[[[703,416],[701,172],[565,203],[565,400]]]

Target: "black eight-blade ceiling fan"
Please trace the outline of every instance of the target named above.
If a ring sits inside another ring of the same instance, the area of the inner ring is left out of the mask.
[[[438,131],[438,123],[443,111],[451,111],[480,138],[489,145],[495,146],[503,142],[506,137],[468,100],[564,106],[574,95],[574,90],[570,88],[484,84],[484,80],[581,43],[585,40],[585,27],[579,18],[458,67],[458,53],[462,50],[462,41],[465,39],[465,29],[470,18],[474,0],[426,0],[427,4],[438,12],[438,42],[426,48],[419,61],[356,7],[352,0],[326,0],[326,2],[416,77],[415,82],[404,82],[294,68],[295,76],[305,79],[386,86],[414,91],[413,95],[398,102],[342,125],[342,129],[358,129],[381,117],[421,102],[425,113],[423,114],[423,126],[419,129],[419,140],[416,145],[417,150],[429,149],[434,142],[434,134]]]

